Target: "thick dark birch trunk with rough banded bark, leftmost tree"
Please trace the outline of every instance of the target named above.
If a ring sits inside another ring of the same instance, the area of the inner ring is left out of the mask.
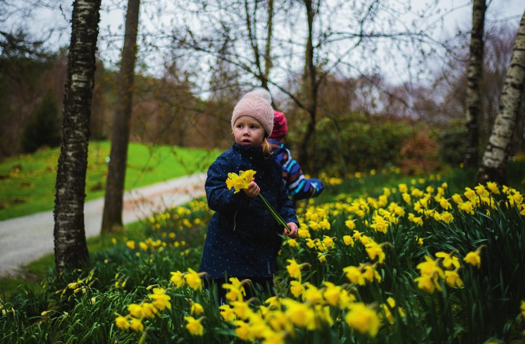
[[[89,117],[95,76],[101,0],[76,0],[71,18],[62,142],[55,185],[55,264],[79,267],[89,259],[84,229],[84,200]]]

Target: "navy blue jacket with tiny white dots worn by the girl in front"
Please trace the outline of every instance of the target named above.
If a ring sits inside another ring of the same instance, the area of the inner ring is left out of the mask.
[[[260,193],[284,218],[297,221],[292,201],[282,180],[282,169],[275,155],[264,157],[261,147],[233,147],[209,166],[205,189],[208,206],[215,214],[208,226],[199,271],[211,278],[260,276],[276,271],[277,252],[283,228],[271,216],[259,197],[251,199],[244,191],[228,190],[228,172],[255,170]]]

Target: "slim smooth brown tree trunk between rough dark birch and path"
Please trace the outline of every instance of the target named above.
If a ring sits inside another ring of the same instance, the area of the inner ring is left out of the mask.
[[[126,162],[128,160],[131,108],[133,105],[139,7],[140,0],[128,0],[124,47],[122,48],[122,61],[117,85],[117,109],[113,118],[111,153],[106,182],[104,212],[102,215],[102,234],[113,230],[122,230],[122,203]]]

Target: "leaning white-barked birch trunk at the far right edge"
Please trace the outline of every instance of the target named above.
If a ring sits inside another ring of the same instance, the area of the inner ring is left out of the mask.
[[[478,171],[479,182],[490,180],[500,184],[506,183],[507,160],[512,133],[518,119],[523,85],[525,85],[525,12],[521,17],[518,35],[514,41],[496,121]]]

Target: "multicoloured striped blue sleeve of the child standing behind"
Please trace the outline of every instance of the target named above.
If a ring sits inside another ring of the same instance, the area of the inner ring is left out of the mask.
[[[286,180],[288,192],[294,201],[317,197],[323,191],[323,184],[318,179],[306,179],[299,163],[291,157],[285,148],[277,156],[282,166],[282,176]]]

